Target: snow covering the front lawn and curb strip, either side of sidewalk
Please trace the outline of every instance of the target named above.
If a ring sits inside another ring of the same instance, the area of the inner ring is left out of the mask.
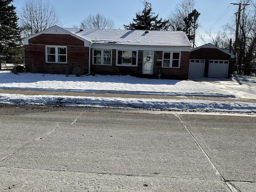
[[[184,99],[138,99],[75,96],[28,96],[0,94],[0,103],[7,104],[58,104],[79,106],[109,106],[185,110],[201,112],[256,113],[256,103],[236,101],[237,98],[256,98],[256,78],[195,78],[192,80],[146,79],[131,76],[82,76],[32,74],[0,71],[2,90],[44,90],[56,92],[90,92],[115,94],[150,94],[181,96]],[[190,100],[186,96],[228,97],[234,102]]]

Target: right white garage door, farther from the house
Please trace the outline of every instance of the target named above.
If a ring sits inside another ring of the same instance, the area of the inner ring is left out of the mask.
[[[228,78],[229,61],[210,60],[208,77]]]

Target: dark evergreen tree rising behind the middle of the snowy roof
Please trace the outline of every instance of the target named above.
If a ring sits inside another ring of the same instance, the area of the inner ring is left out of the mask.
[[[168,20],[158,19],[158,14],[154,16],[152,12],[151,4],[144,0],[144,9],[136,13],[136,18],[133,18],[133,22],[129,25],[124,25],[125,29],[135,29],[139,22],[142,23],[144,28],[147,30],[167,30],[168,29]]]

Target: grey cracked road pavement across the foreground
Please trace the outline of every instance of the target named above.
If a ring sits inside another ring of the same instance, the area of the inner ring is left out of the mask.
[[[0,105],[0,192],[256,191],[255,116]]]

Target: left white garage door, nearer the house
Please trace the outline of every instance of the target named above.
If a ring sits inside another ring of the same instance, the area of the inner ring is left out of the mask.
[[[204,60],[190,59],[188,76],[190,77],[203,77],[204,76]]]

